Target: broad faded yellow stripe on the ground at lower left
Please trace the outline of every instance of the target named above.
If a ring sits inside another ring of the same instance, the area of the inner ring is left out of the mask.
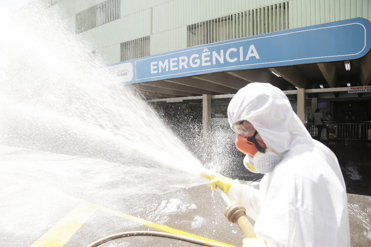
[[[73,208],[49,231],[41,236],[31,247],[57,247],[64,246],[78,231],[86,220],[97,210],[97,205],[82,202]]]

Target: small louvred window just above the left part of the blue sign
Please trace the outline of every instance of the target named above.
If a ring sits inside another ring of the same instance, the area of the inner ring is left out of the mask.
[[[150,36],[121,43],[121,62],[150,55]]]

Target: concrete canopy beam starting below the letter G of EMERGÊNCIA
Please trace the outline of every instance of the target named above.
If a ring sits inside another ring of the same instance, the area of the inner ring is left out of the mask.
[[[237,90],[243,88],[247,84],[246,81],[244,81],[243,79],[236,79],[236,77],[224,72],[193,76],[193,78],[205,80],[207,82],[215,83]]]

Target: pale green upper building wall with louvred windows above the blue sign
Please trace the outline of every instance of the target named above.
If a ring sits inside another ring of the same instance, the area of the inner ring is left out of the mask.
[[[185,47],[354,17],[368,0],[45,0],[116,63]]]

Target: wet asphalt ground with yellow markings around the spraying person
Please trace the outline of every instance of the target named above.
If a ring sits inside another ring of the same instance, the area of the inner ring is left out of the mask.
[[[81,169],[82,164],[89,171]],[[371,246],[371,198],[367,195],[370,164],[340,164],[347,189],[353,190],[348,193],[352,246]],[[111,165],[102,160],[0,146],[0,246],[87,246],[107,235],[134,230],[242,245],[242,232],[224,218],[224,202],[207,185],[163,193],[122,193],[124,181],[107,173],[101,183],[98,181],[105,174],[91,172]],[[259,179],[248,173],[241,178]],[[259,186],[258,181],[244,183]],[[129,237],[102,246],[196,245]]]

